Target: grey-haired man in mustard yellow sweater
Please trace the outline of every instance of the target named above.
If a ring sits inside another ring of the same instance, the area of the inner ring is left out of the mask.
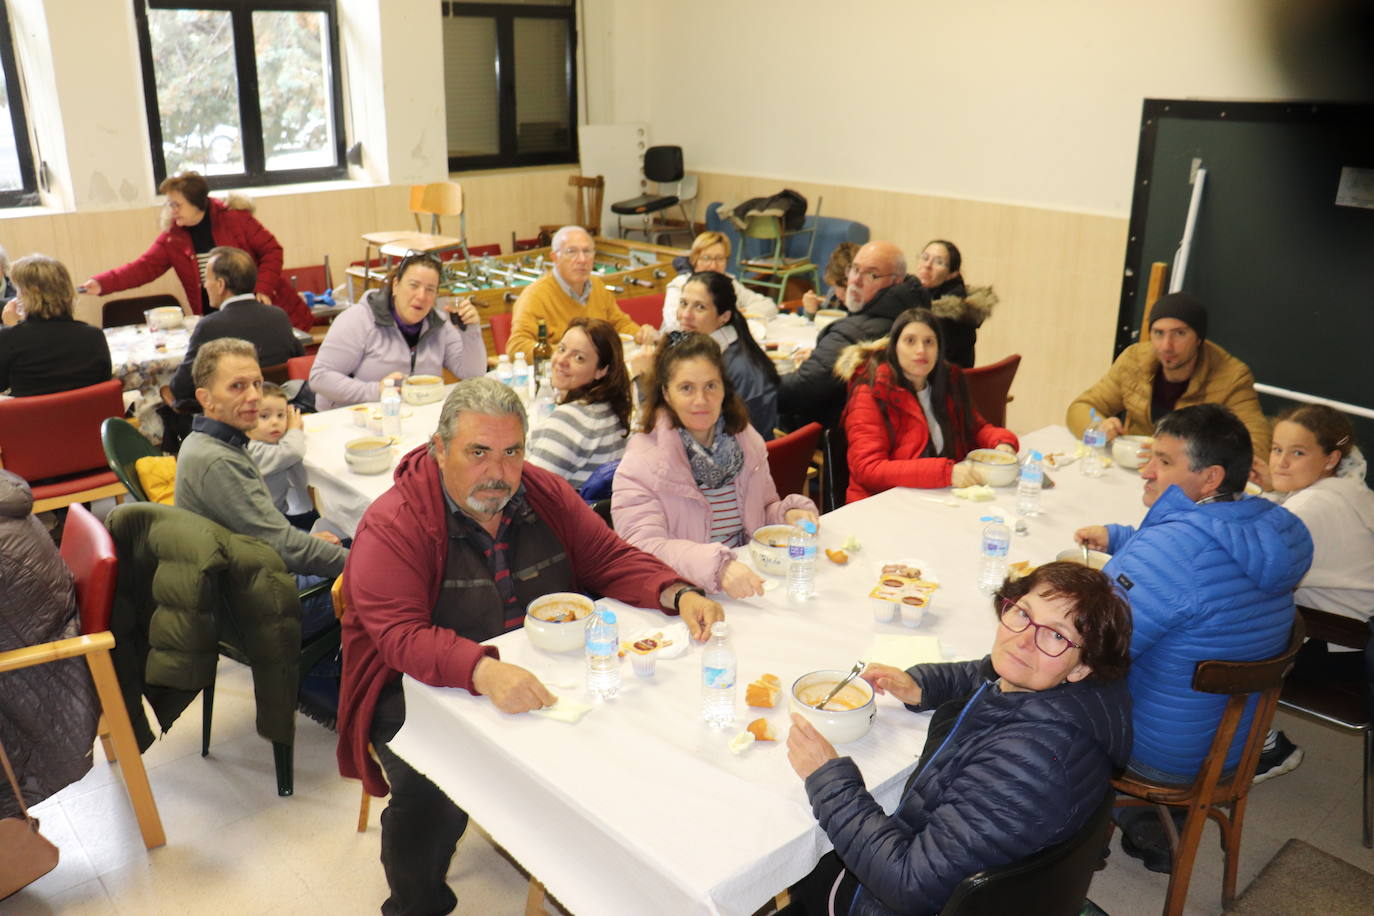
[[[578,314],[610,321],[621,334],[633,334],[636,343],[651,343],[658,336],[653,325],[635,324],[620,310],[616,297],[592,276],[595,260],[596,244],[587,229],[565,225],[554,233],[554,269],[525,287],[515,301],[511,338],[506,343],[506,352],[513,358],[517,353],[530,357],[540,319],[548,324],[548,339],[555,345],[567,330],[567,323]]]

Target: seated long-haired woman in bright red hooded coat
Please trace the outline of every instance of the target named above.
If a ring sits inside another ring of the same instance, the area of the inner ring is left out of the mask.
[[[930,309],[907,309],[888,338],[848,347],[835,372],[849,382],[848,501],[893,486],[978,483],[962,464],[973,449],[1015,453],[1017,437],[973,408],[963,372],[944,357],[940,323]]]

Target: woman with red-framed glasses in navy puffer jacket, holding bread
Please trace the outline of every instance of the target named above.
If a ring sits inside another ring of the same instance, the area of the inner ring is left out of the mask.
[[[794,894],[807,913],[938,912],[965,878],[1077,834],[1109,791],[1131,751],[1129,606],[1077,563],[1009,580],[992,606],[981,661],[863,672],[934,713],[892,814],[853,759],[793,714],[787,759],[835,847]]]

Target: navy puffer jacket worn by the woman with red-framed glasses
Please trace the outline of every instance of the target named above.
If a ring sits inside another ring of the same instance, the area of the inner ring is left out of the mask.
[[[988,659],[918,665],[922,706],[977,691],[890,817],[848,757],[807,779],[812,812],[861,887],[852,916],[934,913],[969,875],[1073,835],[1131,751],[1125,680],[1003,694]]]

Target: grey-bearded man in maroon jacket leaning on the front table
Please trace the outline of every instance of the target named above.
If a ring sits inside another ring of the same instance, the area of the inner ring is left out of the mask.
[[[541,595],[606,595],[680,614],[697,640],[723,619],[720,604],[620,540],[566,481],[526,464],[525,433],[510,387],[459,382],[429,445],[401,459],[396,485],[367,509],[344,571],[338,761],[372,795],[390,783],[383,913],[456,906],[445,876],[467,827],[467,814],[387,746],[405,721],[403,673],[526,713],[558,698],[481,643],[521,626]]]

